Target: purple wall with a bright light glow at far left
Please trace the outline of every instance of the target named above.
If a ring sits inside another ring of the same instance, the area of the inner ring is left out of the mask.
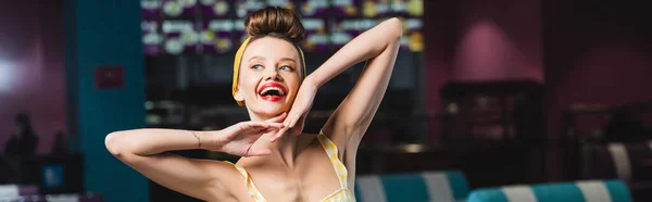
[[[14,114],[27,112],[47,153],[66,129],[61,3],[28,2],[0,2],[0,144]]]

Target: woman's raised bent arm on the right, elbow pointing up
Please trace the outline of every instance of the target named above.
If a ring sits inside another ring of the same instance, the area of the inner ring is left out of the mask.
[[[355,37],[306,78],[318,88],[354,64],[367,61],[358,83],[324,126],[324,132],[338,147],[358,149],[385,96],[401,35],[401,22],[396,17],[387,20]]]

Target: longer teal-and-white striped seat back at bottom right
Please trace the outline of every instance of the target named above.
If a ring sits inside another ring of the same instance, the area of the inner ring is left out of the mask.
[[[467,202],[631,202],[629,189],[620,180],[506,186],[478,189]]]

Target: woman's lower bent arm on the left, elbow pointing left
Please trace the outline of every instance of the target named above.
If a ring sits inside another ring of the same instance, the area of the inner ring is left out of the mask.
[[[203,144],[212,141],[210,132],[195,132]],[[106,149],[123,163],[163,187],[201,200],[228,195],[223,181],[237,171],[218,161],[192,160],[167,153],[173,150],[199,149],[192,131],[175,129],[136,129],[111,132]]]

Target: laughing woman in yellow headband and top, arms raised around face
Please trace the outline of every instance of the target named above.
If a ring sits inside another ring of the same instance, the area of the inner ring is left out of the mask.
[[[303,26],[290,10],[265,8],[244,21],[233,96],[251,121],[217,131],[135,129],[110,134],[108,150],[153,181],[206,201],[354,201],[355,154],[385,94],[401,38],[387,20],[305,76]],[[355,87],[319,135],[302,134],[317,89],[366,61]],[[236,164],[166,151],[204,149],[242,156]]]

